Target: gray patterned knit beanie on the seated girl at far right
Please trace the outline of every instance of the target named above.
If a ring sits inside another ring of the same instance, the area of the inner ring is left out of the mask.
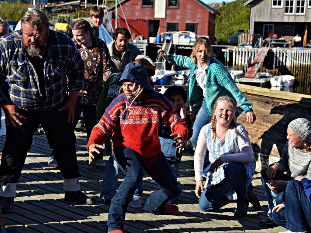
[[[304,118],[297,118],[288,125],[305,142],[311,141],[311,122]]]

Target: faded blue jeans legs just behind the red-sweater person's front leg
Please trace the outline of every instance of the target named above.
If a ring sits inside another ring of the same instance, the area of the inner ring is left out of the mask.
[[[100,197],[103,199],[111,200],[114,195],[117,193],[118,187],[118,178],[119,178],[120,168],[118,163],[114,161],[112,154],[109,156],[109,160],[106,164],[105,175],[103,179],[103,184],[101,186]],[[133,196],[141,196],[142,195],[142,179],[138,184],[137,189]]]

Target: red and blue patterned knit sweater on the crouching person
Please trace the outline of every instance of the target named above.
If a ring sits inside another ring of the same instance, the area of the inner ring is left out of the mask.
[[[122,94],[111,102],[100,122],[93,128],[87,148],[93,143],[102,145],[112,131],[114,149],[125,146],[138,152],[143,159],[151,158],[161,151],[158,126],[162,118],[172,132],[187,138],[186,123],[161,93],[148,91],[143,102],[134,101],[128,110],[128,121],[124,127],[126,113],[122,117],[120,115],[126,109],[127,101],[129,107],[132,101]]]

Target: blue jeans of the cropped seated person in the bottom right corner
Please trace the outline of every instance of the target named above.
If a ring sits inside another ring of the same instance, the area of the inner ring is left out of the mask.
[[[285,208],[272,212],[276,224],[293,232],[310,231],[311,204],[298,180],[291,180],[286,187]]]

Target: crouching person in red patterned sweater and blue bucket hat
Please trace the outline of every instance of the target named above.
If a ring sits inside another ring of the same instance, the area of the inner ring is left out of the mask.
[[[126,174],[118,192],[111,200],[107,221],[108,232],[123,232],[125,212],[143,176],[143,168],[160,189],[152,192],[145,210],[153,214],[173,214],[176,205],[168,200],[179,195],[176,179],[161,151],[158,126],[161,119],[171,128],[181,150],[188,136],[186,123],[174,111],[171,103],[154,91],[147,82],[147,71],[141,65],[129,63],[120,78],[123,94],[107,107],[100,122],[93,128],[87,143],[89,161],[103,149],[103,142],[112,131],[114,160]]]

